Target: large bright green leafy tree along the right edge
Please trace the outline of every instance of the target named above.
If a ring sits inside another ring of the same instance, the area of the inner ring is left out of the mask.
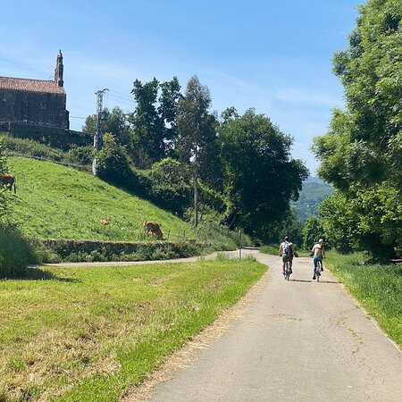
[[[334,110],[314,153],[337,189],[322,207],[330,238],[387,257],[402,242],[402,3],[369,0],[359,12],[348,49],[333,58],[346,108]]]

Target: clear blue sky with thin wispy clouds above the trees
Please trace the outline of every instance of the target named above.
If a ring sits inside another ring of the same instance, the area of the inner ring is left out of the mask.
[[[308,151],[328,127],[343,89],[331,73],[334,51],[348,46],[354,0],[115,0],[2,2],[0,75],[49,80],[62,49],[71,129],[106,105],[132,111],[132,82],[197,74],[213,109],[264,113]]]

